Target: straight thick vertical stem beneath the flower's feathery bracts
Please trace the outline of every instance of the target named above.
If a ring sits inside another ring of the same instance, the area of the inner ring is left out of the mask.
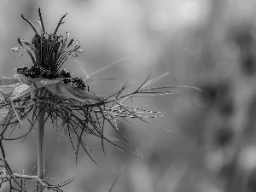
[[[40,104],[38,119],[38,178],[44,181],[44,106]],[[43,191],[44,186],[38,183],[38,191]]]

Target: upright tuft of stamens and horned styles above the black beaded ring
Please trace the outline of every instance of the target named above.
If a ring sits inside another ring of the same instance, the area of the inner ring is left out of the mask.
[[[50,33],[45,32],[44,30],[44,21],[41,15],[40,8],[38,9],[38,14],[40,21],[37,22],[40,26],[40,33],[30,20],[26,19],[26,17],[21,15],[21,17],[26,20],[26,22],[30,26],[32,26],[32,29],[35,32],[35,36],[32,38],[32,41],[18,38],[18,42],[21,46],[20,48],[25,49],[26,52],[30,55],[34,67],[39,67],[41,70],[45,70],[44,78],[53,79],[56,78],[56,73],[58,73],[60,67],[70,55],[76,57],[78,56],[78,53],[83,52],[84,49],[80,49],[80,39],[78,39],[74,48],[67,50],[67,48],[69,48],[73,44],[73,39],[68,41],[68,32],[66,32],[65,36],[57,35],[58,29],[61,24],[64,23],[63,19],[67,14],[61,17],[61,20],[55,27],[54,32]],[[29,49],[26,49],[22,43],[28,46]],[[17,51],[19,48],[12,49]]]

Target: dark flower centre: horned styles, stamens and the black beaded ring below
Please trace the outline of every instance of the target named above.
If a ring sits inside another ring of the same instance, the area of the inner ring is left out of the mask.
[[[18,67],[16,69],[17,73],[20,73],[27,78],[44,78],[44,79],[56,79],[56,78],[66,78],[63,82],[64,84],[75,84],[80,89],[85,89],[86,85],[82,79],[72,76],[72,73],[68,72],[66,69],[60,71],[61,66],[69,56],[78,56],[79,53],[83,52],[84,49],[80,48],[80,39],[77,40],[77,43],[73,49],[68,49],[73,44],[73,38],[68,40],[69,33],[66,32],[65,35],[58,35],[58,29],[61,24],[64,23],[63,19],[65,15],[61,17],[61,20],[58,22],[55,27],[54,32],[45,32],[44,21],[41,15],[40,8],[38,9],[38,14],[40,21],[37,21],[40,26],[40,32],[32,22],[26,19],[25,16],[21,17],[26,20],[26,22],[32,26],[35,36],[32,38],[32,41],[24,40],[18,38],[20,47],[11,48],[13,51],[19,51],[24,49],[25,52],[30,55],[32,59],[32,67]],[[22,56],[21,54],[20,56]]]

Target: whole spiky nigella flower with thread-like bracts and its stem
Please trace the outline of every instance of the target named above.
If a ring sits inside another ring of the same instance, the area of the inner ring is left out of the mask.
[[[172,85],[151,87],[152,84],[165,77],[168,73],[161,74],[154,79],[146,79],[136,90],[124,93],[127,84],[123,85],[119,91],[111,96],[97,96],[89,89],[85,82],[73,76],[73,73],[61,66],[70,56],[78,56],[84,49],[80,49],[79,40],[70,49],[73,39],[68,40],[68,33],[64,36],[58,35],[58,29],[63,19],[63,15],[55,30],[51,33],[45,32],[41,11],[38,9],[38,21],[40,31],[30,20],[21,15],[26,22],[32,26],[35,36],[32,41],[18,38],[20,47],[12,48],[14,51],[23,49],[32,59],[32,67],[18,67],[13,78],[0,78],[0,109],[1,114],[5,114],[0,121],[0,151],[2,153],[3,172],[0,178],[9,181],[10,191],[24,191],[24,179],[34,179],[38,181],[38,191],[44,188],[62,191],[60,188],[66,183],[50,185],[45,180],[44,175],[44,125],[49,123],[58,131],[64,130],[72,144],[76,159],[79,159],[79,149],[84,149],[91,160],[90,148],[84,142],[85,137],[98,137],[102,143],[111,143],[117,148],[117,140],[105,135],[105,127],[113,128],[119,137],[125,137],[119,132],[118,123],[129,124],[131,119],[140,119],[149,125],[146,119],[163,116],[165,113],[148,110],[144,107],[131,106],[128,103],[136,96],[162,96],[175,94],[177,90],[171,90]],[[21,54],[23,55],[23,54]],[[13,87],[12,91],[4,91],[5,87]],[[1,89],[2,88],[2,89]],[[194,88],[194,87],[193,87]],[[196,89],[196,88],[195,88]],[[131,102],[130,102],[131,103]],[[28,131],[20,137],[14,137],[15,128],[26,121],[30,125]],[[38,125],[38,126],[36,126]],[[154,125],[159,127],[157,125]],[[37,128],[36,128],[37,127]],[[161,127],[160,127],[161,128]],[[26,138],[33,130],[38,131],[38,176],[24,176],[13,172],[10,168],[3,148],[3,143],[15,139]],[[161,128],[164,129],[164,128]],[[77,144],[74,144],[77,140]],[[126,149],[125,149],[126,150]],[[137,153],[133,152],[133,153]],[[94,160],[95,161],[95,160]],[[20,178],[20,184],[17,182]],[[12,182],[18,185],[19,189],[13,188]],[[3,183],[3,180],[2,180]],[[1,182],[0,182],[1,187]]]

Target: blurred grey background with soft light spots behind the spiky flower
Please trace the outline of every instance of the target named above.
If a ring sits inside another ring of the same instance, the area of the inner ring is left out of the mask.
[[[57,178],[49,182],[75,176],[65,191],[108,191],[125,166],[113,192],[256,191],[255,1],[2,0],[1,77],[12,77],[15,67],[31,65],[27,55],[17,59],[9,48],[18,46],[18,37],[32,39],[32,28],[20,14],[35,23],[38,7],[47,32],[68,11],[59,33],[80,38],[85,49],[63,66],[75,76],[83,78],[83,70],[93,73],[119,61],[96,75],[99,80],[90,89],[97,94],[109,96],[127,80],[133,82],[131,88],[137,87],[148,74],[166,72],[170,74],[158,85],[186,84],[203,90],[182,89],[175,96],[145,99],[150,108],[167,113],[151,122],[171,133],[140,122],[119,125],[143,156],[108,144],[104,155],[100,140],[88,137],[99,166],[85,153],[76,165],[68,138],[49,125],[46,176]],[[100,80],[104,78],[117,80]],[[108,127],[106,133],[115,135]],[[16,172],[35,173],[36,140],[32,133],[23,142],[5,143]]]

